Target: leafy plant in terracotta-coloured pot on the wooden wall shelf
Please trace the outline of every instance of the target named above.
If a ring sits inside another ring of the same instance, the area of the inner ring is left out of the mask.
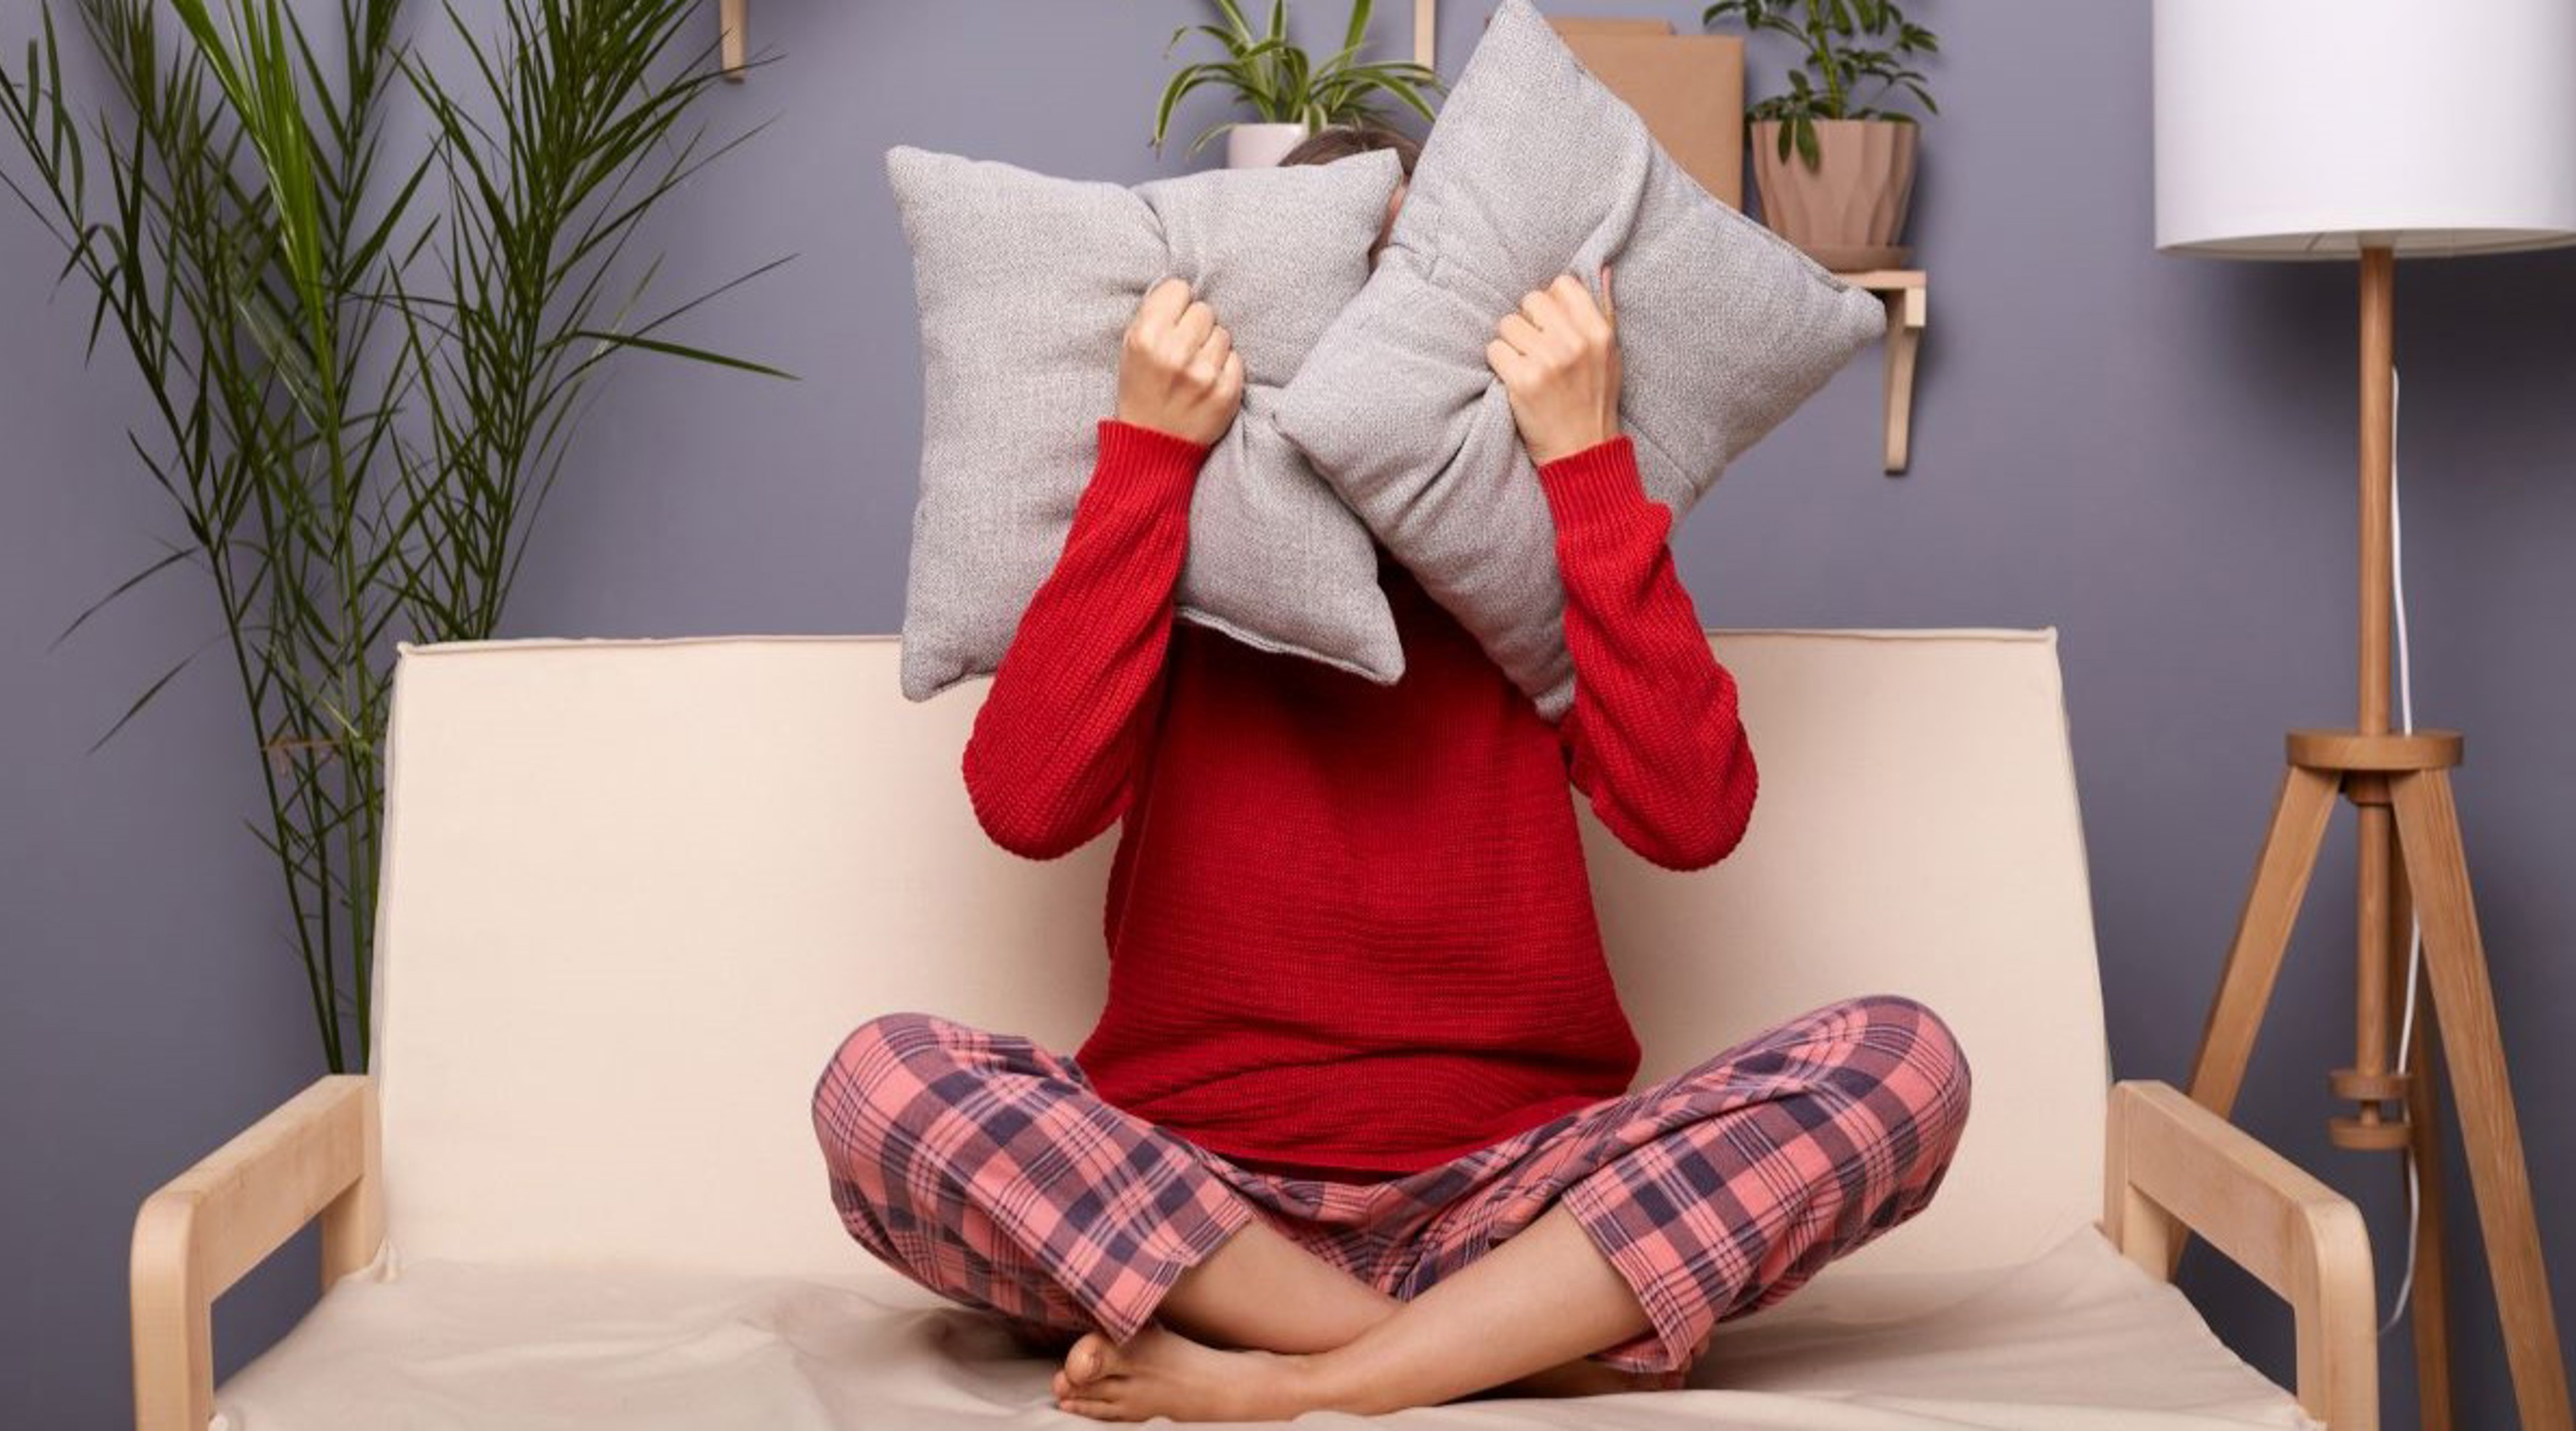
[[[1716,0],[1700,26],[1718,21],[1801,52],[1788,93],[1744,111],[1762,222],[1826,268],[1901,266],[1917,126],[1880,103],[1901,90],[1940,113],[1914,70],[1940,41],[1893,0]]]

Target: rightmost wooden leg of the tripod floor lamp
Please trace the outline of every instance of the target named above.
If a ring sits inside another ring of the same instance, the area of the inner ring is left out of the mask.
[[[2468,853],[2447,771],[2409,771],[2388,781],[2398,817],[2398,853],[2424,923],[2424,972],[2442,1008],[2445,1055],[2468,1176],[2478,1196],[2486,1266],[2496,1284],[2504,1354],[2514,1372],[2514,1400],[2527,1431],[2568,1431],[2568,1374],[2558,1351],[2532,1181],[2514,1119],[2514,1088],[2504,1065],[2496,993],[2486,977],[2478,910],[2468,887]]]

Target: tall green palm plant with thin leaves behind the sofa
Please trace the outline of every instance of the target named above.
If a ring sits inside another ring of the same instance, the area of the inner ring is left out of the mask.
[[[185,541],[64,634],[165,570],[209,578],[322,1055],[363,1067],[392,645],[497,629],[611,356],[773,371],[657,338],[742,278],[647,315],[629,255],[732,147],[688,124],[716,70],[680,49],[690,0],[502,0],[492,36],[451,8],[461,80],[402,41],[402,0],[337,0],[327,36],[281,0],[72,5],[111,103],[64,90],[46,8],[0,70],[26,160],[0,183],[90,289],[90,348],[142,376],[129,446]],[[433,144],[397,168],[404,95]]]

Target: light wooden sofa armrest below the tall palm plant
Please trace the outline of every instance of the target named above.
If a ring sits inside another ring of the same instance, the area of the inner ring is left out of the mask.
[[[340,1073],[209,1153],[134,1217],[134,1426],[206,1431],[214,1300],[314,1217],[322,1287],[384,1240],[376,1083]]]

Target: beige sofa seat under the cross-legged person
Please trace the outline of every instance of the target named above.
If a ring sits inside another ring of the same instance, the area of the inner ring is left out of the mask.
[[[853,1251],[853,1258],[863,1253]],[[394,1271],[394,1276],[386,1276]],[[1092,1426],[1054,1364],[873,1263],[827,1279],[392,1256],[216,1392],[219,1431]],[[1358,1418],[1306,1418],[1301,1423]],[[1826,1269],[1718,1328],[1690,1390],[1484,1400],[1409,1428],[2316,1428],[2092,1227],[1986,1271]]]

